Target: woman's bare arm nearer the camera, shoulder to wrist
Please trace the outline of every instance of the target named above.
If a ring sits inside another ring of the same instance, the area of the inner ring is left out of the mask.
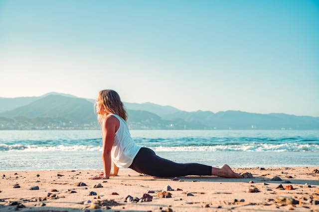
[[[102,161],[104,167],[104,178],[110,178],[111,172],[111,150],[114,142],[115,133],[119,127],[119,120],[114,116],[107,116],[102,124]]]

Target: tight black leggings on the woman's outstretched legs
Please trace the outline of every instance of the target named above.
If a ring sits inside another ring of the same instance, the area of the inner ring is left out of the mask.
[[[140,149],[129,168],[155,177],[211,175],[211,166],[199,163],[175,163],[157,156],[152,149],[146,147]]]

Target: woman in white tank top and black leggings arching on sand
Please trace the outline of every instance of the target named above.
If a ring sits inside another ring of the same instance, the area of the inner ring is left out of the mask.
[[[241,177],[226,164],[221,168],[216,168],[199,163],[175,163],[157,156],[150,148],[136,145],[126,123],[126,110],[119,94],[114,90],[99,92],[96,110],[98,121],[102,126],[104,173],[90,179],[109,179],[110,176],[118,174],[119,167],[131,168],[139,173],[157,177],[186,175]],[[113,172],[111,173],[112,161]]]

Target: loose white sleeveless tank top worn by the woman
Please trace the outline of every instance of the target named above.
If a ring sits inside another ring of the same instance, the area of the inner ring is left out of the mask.
[[[131,138],[126,121],[116,114],[110,115],[115,116],[120,121],[120,127],[115,133],[111,150],[112,160],[117,167],[129,168],[141,147],[137,146]]]

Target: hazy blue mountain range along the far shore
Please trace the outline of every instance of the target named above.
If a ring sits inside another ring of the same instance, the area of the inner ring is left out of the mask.
[[[47,93],[0,98],[0,130],[100,129],[94,99]],[[152,130],[319,130],[319,117],[242,111],[186,112],[150,102],[124,105],[130,129]]]

